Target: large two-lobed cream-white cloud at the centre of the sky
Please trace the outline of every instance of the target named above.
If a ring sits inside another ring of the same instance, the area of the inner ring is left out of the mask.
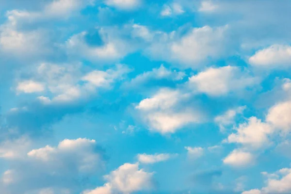
[[[150,130],[162,134],[174,133],[183,126],[199,122],[200,115],[192,109],[179,110],[179,102],[189,94],[167,88],[160,89],[153,97],[143,99],[135,108],[141,113]]]

